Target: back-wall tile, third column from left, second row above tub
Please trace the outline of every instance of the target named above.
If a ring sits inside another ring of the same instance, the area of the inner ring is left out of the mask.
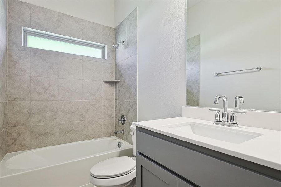
[[[82,120],[81,101],[59,101],[59,122]]]

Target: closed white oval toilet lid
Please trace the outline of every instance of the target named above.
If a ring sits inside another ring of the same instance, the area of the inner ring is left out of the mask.
[[[136,161],[128,156],[119,156],[101,161],[91,168],[96,178],[112,178],[130,173],[136,168]]]

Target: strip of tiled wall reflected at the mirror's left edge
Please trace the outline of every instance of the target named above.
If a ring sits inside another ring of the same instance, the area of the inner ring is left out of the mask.
[[[187,105],[199,106],[200,96],[200,35],[187,39],[186,65]]]

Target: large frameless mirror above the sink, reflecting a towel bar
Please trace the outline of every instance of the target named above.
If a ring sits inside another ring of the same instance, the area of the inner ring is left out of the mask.
[[[280,15],[281,1],[187,0],[187,105],[280,112]]]

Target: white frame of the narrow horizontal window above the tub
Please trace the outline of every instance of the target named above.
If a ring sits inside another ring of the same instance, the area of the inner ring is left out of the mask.
[[[74,37],[70,37],[70,36],[55,34],[55,33],[51,33],[51,32],[40,31],[40,30],[31,29],[31,28],[27,28],[27,27],[22,27],[22,46],[28,47],[27,46],[28,45],[27,44],[28,36],[35,36],[35,37],[40,37],[40,38],[46,38],[49,40],[61,41],[61,42],[66,42],[66,43],[70,43],[70,44],[87,46],[87,47],[92,47],[95,49],[101,49],[102,50],[101,59],[107,59],[107,56],[106,56],[107,45],[105,45],[105,44],[82,40],[82,39],[78,39],[78,38],[74,38]],[[39,49],[39,48],[37,48],[37,49]],[[75,55],[77,55],[77,54],[75,54]],[[97,57],[94,57],[94,58],[97,58]]]

